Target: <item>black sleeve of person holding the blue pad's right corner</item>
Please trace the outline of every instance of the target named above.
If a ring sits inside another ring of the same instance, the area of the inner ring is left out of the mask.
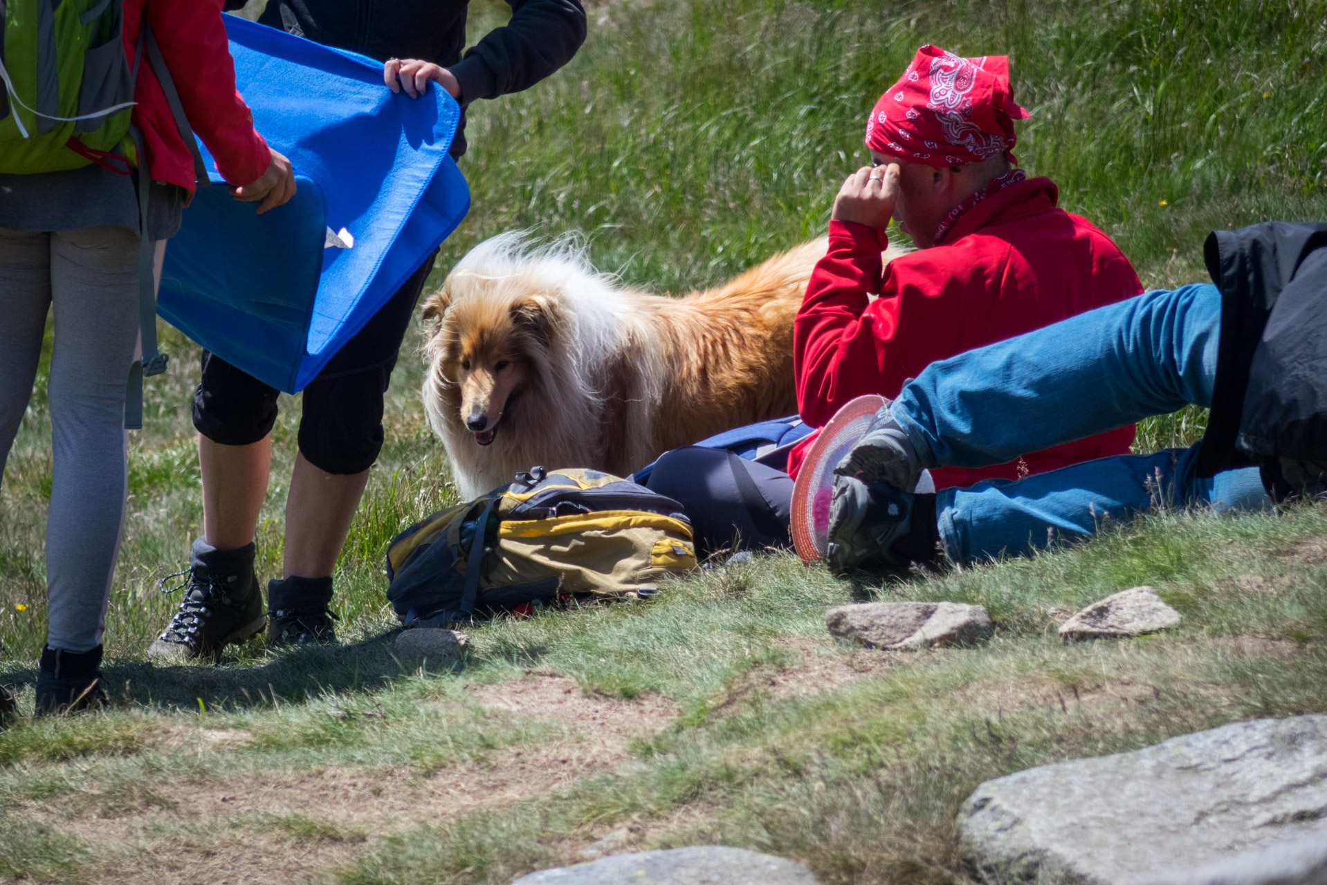
[[[580,0],[507,0],[507,5],[511,21],[488,32],[451,66],[463,103],[529,89],[571,61],[585,42]]]

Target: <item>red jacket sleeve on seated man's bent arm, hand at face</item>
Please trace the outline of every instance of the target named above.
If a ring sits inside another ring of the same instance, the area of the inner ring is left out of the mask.
[[[882,245],[874,228],[829,222],[829,252],[792,332],[798,409],[808,425],[824,426],[855,397],[894,397],[932,361],[965,349],[974,283],[985,288],[971,268],[938,267],[941,251],[928,249],[881,269]]]

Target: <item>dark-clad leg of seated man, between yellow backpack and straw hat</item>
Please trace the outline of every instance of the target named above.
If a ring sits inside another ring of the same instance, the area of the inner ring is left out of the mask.
[[[719,448],[675,448],[654,464],[646,488],[682,504],[697,556],[719,549],[790,547],[792,478]]]

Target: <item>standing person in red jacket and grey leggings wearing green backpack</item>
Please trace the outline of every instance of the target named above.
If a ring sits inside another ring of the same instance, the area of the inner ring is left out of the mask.
[[[186,143],[192,137],[180,131],[163,84],[174,82],[183,115],[236,199],[259,202],[261,212],[295,195],[291,163],[253,130],[249,109],[235,92],[222,0],[125,0],[97,9],[117,17],[118,27],[109,29],[111,40],[123,44],[126,74],[139,58],[130,123],[141,133],[142,150],[131,153],[123,142],[114,151],[92,150],[74,135],[50,147],[62,154],[53,165],[60,171],[0,174],[0,470],[32,397],[46,313],[54,310],[49,609],[37,715],[105,702],[102,633],[125,521],[125,401],[139,341],[139,257],[143,239],[155,243],[159,267],[163,240],[179,230],[198,172]],[[166,70],[153,61],[155,52],[142,52],[150,45],[149,27]],[[17,69],[16,58],[7,64]],[[81,88],[106,84],[85,78]],[[28,113],[7,106],[7,115]],[[40,135],[44,123],[52,130],[50,121],[58,118],[48,113],[28,119],[27,129]],[[17,126],[21,131],[23,123]],[[13,169],[19,151],[31,150],[35,141],[5,142],[4,150],[13,153],[0,155],[0,169]],[[78,166],[76,154],[88,162]],[[146,206],[137,187],[143,175]],[[5,706],[0,693],[0,714]]]

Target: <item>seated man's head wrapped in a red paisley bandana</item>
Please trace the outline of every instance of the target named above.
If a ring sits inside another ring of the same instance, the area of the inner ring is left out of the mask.
[[[913,241],[934,243],[955,206],[1016,163],[1014,103],[1006,56],[962,58],[922,46],[867,121],[873,165],[898,163],[894,218]]]

